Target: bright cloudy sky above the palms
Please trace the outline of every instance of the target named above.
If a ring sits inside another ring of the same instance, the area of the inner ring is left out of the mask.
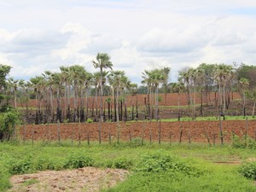
[[[0,0],[0,63],[30,79],[108,53],[140,84],[144,70],[256,64],[253,0]]]

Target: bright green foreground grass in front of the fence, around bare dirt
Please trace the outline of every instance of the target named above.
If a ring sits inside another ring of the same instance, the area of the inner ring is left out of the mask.
[[[256,191],[243,177],[239,165],[215,162],[255,158],[248,148],[207,144],[138,141],[97,143],[0,143],[0,191],[9,189],[12,174],[61,170],[80,166],[124,168],[131,171],[125,182],[105,191]],[[26,184],[36,183],[28,181]]]

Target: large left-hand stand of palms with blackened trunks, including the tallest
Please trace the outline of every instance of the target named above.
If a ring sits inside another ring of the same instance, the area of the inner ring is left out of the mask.
[[[99,72],[90,73],[82,66],[73,65],[61,66],[59,73],[45,71],[27,82],[9,78],[8,94],[13,97],[14,106],[17,108],[19,92],[19,102],[22,108],[26,105],[27,118],[28,100],[34,95],[36,124],[55,121],[83,122],[90,117],[101,126],[101,122],[107,120],[105,104],[108,105],[108,120],[118,122],[128,119],[126,95],[136,96],[137,84],[132,84],[124,71],[114,71],[110,57],[106,53],[98,53],[96,61],[91,62]],[[94,94],[94,98],[89,97],[91,93]],[[26,99],[21,100],[23,96],[26,96]],[[103,97],[106,96],[107,99],[103,101]],[[134,115],[133,105],[131,118],[136,117],[138,110]]]

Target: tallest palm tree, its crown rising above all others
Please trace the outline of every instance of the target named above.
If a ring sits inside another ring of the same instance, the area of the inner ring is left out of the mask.
[[[103,121],[102,105],[103,105],[103,68],[110,68],[112,70],[113,64],[110,61],[110,56],[107,53],[98,53],[96,55],[96,61],[92,60],[95,68],[100,68],[101,79],[100,79],[100,90],[101,90],[101,105],[100,105],[100,120],[99,120],[99,143],[102,143],[101,139],[101,122]]]

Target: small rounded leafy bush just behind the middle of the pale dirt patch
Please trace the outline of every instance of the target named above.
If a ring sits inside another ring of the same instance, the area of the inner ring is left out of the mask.
[[[69,154],[63,168],[81,168],[84,166],[92,166],[94,160],[84,154]]]

